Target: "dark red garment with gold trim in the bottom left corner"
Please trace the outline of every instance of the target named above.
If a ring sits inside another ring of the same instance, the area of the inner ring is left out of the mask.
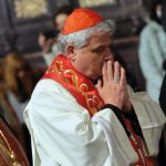
[[[0,166],[29,166],[21,144],[2,117],[0,117]]]

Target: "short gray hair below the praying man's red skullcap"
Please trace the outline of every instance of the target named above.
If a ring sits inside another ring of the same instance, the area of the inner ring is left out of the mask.
[[[94,27],[87,28],[85,30],[81,30],[74,33],[70,33],[66,35],[61,34],[59,40],[62,44],[63,52],[65,52],[65,46],[68,44],[74,45],[76,49],[81,49],[85,46],[89,42],[89,39],[96,34],[112,34],[115,31],[115,23],[112,20],[104,20]]]

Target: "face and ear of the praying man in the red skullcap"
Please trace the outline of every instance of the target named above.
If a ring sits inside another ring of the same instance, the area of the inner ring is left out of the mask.
[[[105,61],[114,61],[110,51],[112,40],[110,35],[94,35],[86,46],[74,49],[71,63],[85,76],[96,80],[102,75],[102,68]]]

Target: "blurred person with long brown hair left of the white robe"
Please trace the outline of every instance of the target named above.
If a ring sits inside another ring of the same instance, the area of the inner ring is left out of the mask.
[[[24,125],[23,110],[25,108],[31,93],[41,76],[30,68],[23,55],[18,52],[10,52],[4,59],[4,83],[7,101],[14,111],[15,118],[18,118],[21,134],[23,137],[23,145],[29,160],[31,160],[30,135]]]

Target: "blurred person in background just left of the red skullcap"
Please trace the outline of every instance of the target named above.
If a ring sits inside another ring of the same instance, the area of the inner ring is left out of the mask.
[[[53,17],[53,25],[55,28],[54,35],[51,31],[41,32],[39,35],[39,45],[43,50],[43,59],[46,65],[51,64],[56,54],[62,53],[62,45],[59,42],[58,32],[64,25],[66,17],[73,11],[73,8],[69,4],[64,4],[58,9]],[[52,33],[52,35],[50,35]]]

